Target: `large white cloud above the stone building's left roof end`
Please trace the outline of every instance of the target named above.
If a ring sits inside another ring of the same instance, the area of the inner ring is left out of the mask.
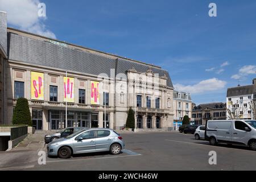
[[[0,0],[0,10],[7,12],[7,22],[11,26],[56,39],[43,22],[47,18],[38,16],[39,3],[39,0]]]

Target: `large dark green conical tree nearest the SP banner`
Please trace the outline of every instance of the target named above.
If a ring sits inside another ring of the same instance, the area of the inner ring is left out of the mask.
[[[13,111],[13,124],[32,126],[30,108],[26,98],[18,98]]]

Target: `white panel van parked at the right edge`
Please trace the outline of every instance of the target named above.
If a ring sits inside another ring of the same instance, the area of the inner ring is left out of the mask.
[[[256,120],[209,120],[205,133],[210,145],[242,144],[256,151]]]

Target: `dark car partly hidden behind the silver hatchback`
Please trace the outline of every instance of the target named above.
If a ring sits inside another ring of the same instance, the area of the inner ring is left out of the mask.
[[[57,131],[56,133],[53,133],[52,135],[46,135],[44,137],[44,142],[50,143],[56,139],[59,139],[62,137],[68,137],[69,135],[76,133],[77,131],[84,130],[84,129],[86,129],[86,127],[66,127],[65,129]]]

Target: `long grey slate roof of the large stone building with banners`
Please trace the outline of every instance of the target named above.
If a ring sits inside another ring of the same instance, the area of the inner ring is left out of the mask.
[[[126,73],[128,69],[135,68],[138,72],[146,72],[150,65],[137,61],[119,59],[114,60],[105,56],[79,51],[68,47],[58,46],[46,41],[27,38],[26,36],[8,33],[9,59],[23,61],[30,64],[47,67],[67,69],[81,73],[99,75],[106,73],[110,76],[110,69],[117,73]],[[153,73],[167,76],[167,86],[173,88],[170,75],[167,71],[152,67]]]

